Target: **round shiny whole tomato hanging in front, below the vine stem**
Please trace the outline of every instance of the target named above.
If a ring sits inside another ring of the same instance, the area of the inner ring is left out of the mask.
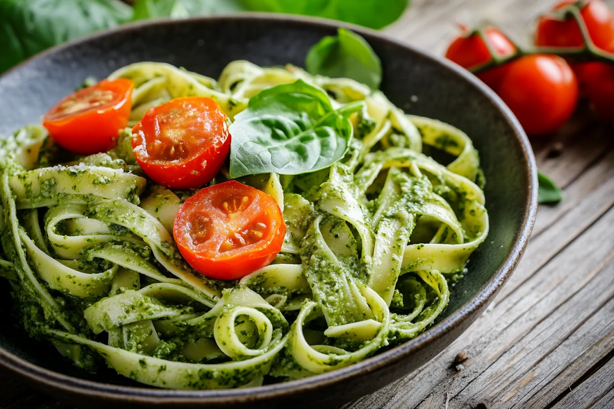
[[[527,55],[510,63],[497,90],[527,134],[550,134],[571,117],[578,82],[569,64],[553,55]]]

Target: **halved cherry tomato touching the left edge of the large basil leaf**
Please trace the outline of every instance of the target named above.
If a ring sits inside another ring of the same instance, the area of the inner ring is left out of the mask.
[[[154,107],[132,132],[136,161],[154,182],[169,188],[203,186],[230,149],[226,114],[209,97],[176,98]]]

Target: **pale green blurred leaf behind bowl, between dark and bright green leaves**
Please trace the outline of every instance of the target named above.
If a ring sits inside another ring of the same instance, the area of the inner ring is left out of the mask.
[[[134,20],[146,18],[186,18],[246,10],[239,0],[137,0]]]

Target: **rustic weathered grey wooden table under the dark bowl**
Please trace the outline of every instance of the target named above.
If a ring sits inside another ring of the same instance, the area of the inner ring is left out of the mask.
[[[551,1],[414,0],[387,34],[441,55],[472,12],[527,37]],[[614,0],[609,0],[614,7]],[[540,206],[518,269],[491,306],[416,372],[343,409],[614,408],[614,129],[580,107],[534,141],[541,169],[565,190]],[[562,149],[561,149],[562,146]],[[465,351],[462,367],[454,363]],[[66,409],[8,374],[0,408]]]

